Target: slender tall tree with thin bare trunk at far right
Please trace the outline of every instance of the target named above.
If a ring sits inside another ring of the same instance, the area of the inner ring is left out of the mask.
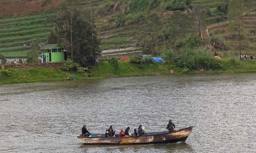
[[[240,60],[242,59],[241,53],[241,38],[242,34],[245,34],[245,29],[243,28],[241,17],[244,13],[244,0],[231,0],[229,4],[229,31],[238,35],[239,39],[239,54]]]

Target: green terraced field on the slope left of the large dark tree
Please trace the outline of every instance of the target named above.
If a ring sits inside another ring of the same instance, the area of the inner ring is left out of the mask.
[[[52,15],[37,13],[0,18],[0,53],[5,57],[25,57],[33,40],[46,41],[52,29],[49,22]]]

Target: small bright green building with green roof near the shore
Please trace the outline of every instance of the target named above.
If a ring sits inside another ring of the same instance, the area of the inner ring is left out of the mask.
[[[40,48],[42,63],[63,62],[67,60],[65,48],[59,44],[47,44]]]

